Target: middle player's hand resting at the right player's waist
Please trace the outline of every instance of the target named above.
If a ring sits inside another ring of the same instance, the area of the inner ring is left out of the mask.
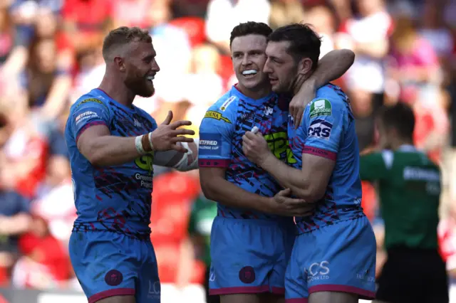
[[[271,212],[280,216],[306,217],[314,214],[315,204],[303,199],[291,198],[291,189],[279,191],[271,198]]]

